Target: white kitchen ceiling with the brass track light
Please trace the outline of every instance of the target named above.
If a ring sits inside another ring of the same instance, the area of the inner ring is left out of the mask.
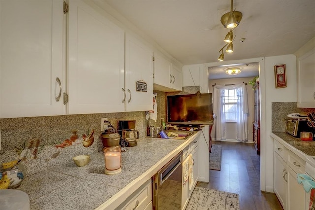
[[[103,1],[182,64],[218,61],[230,0]],[[315,0],[234,0],[233,8],[243,18],[224,61],[293,54],[315,36]]]

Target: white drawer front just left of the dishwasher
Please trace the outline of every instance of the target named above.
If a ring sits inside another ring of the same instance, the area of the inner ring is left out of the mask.
[[[151,181],[148,185],[146,185],[144,188],[140,190],[140,192],[131,199],[130,203],[126,207],[124,207],[124,210],[143,210],[145,209],[148,204],[152,201],[152,187],[151,187]],[[152,206],[152,203],[151,203]]]

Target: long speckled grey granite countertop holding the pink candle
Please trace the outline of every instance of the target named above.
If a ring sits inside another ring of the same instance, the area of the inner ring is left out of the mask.
[[[137,146],[122,152],[120,174],[104,174],[104,154],[95,153],[84,167],[69,161],[28,176],[18,190],[29,195],[32,210],[114,209],[197,136],[198,132],[187,140],[140,138]]]

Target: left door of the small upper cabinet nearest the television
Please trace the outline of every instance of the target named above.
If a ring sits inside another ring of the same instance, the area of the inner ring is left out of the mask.
[[[171,62],[165,59],[161,54],[154,53],[153,67],[153,83],[165,88],[171,88]]]

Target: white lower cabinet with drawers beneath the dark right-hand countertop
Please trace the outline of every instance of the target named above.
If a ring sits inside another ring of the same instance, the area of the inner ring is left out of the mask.
[[[305,190],[296,175],[305,171],[305,161],[274,140],[274,192],[284,210],[304,210]]]

